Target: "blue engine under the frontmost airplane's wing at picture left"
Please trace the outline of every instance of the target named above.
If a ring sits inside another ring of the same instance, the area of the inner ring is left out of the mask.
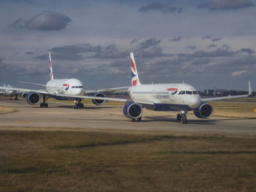
[[[127,118],[138,119],[141,117],[143,110],[140,104],[129,101],[124,105],[123,112]]]

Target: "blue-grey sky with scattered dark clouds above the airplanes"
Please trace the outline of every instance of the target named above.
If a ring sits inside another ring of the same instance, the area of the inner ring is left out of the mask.
[[[256,90],[255,0],[1,0],[0,83],[55,78],[86,88],[140,82]]]

